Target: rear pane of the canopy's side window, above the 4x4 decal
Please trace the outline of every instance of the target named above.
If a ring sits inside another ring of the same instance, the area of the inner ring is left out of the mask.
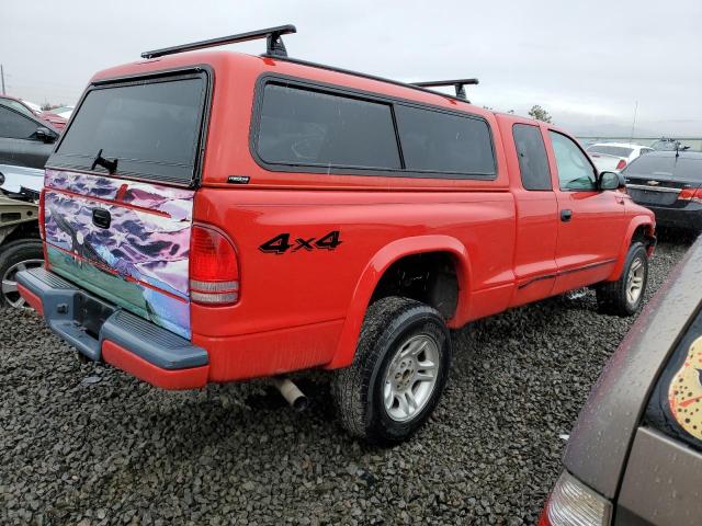
[[[269,83],[258,155],[269,163],[399,169],[388,104]]]

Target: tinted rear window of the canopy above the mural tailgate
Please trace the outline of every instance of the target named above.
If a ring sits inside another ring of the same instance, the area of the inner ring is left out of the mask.
[[[115,175],[190,183],[205,90],[201,76],[91,90],[47,164],[90,169],[102,149]]]

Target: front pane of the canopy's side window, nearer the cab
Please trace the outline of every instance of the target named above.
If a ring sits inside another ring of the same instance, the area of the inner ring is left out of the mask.
[[[403,155],[408,170],[495,175],[487,123],[414,106],[397,105]]]

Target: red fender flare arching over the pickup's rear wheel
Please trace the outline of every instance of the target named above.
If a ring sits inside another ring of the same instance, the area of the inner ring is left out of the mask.
[[[356,282],[350,307],[341,329],[337,350],[325,368],[336,369],[347,367],[353,362],[365,311],[367,310],[373,291],[381,277],[385,274],[385,271],[401,258],[426,252],[449,252],[453,255],[456,262],[458,290],[464,290],[463,294],[458,294],[458,304],[456,305],[454,318],[467,309],[467,295],[465,290],[467,290],[468,276],[471,275],[471,262],[468,252],[461,241],[451,236],[416,236],[393,241],[373,255]]]

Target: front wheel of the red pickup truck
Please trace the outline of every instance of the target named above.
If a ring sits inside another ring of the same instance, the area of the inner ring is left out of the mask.
[[[643,243],[635,242],[629,248],[621,277],[597,287],[600,312],[621,317],[635,315],[641,309],[647,284],[648,253]]]

